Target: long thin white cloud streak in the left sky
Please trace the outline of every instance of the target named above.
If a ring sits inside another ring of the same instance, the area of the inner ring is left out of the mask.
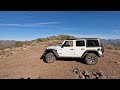
[[[59,22],[41,22],[41,23],[32,23],[32,24],[0,24],[0,26],[43,26],[43,25],[55,25]]]

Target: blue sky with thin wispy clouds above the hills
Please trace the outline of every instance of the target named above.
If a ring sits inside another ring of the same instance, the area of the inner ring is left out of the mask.
[[[0,40],[60,34],[120,39],[120,11],[0,11]]]

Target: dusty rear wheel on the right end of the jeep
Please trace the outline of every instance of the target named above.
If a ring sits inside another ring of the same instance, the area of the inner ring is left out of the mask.
[[[98,62],[98,57],[94,53],[88,53],[85,57],[85,62],[88,65],[95,65]]]

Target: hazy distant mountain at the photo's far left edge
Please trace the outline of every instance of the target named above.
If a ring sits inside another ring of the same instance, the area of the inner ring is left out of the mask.
[[[5,47],[11,47],[16,44],[17,41],[14,40],[0,40],[0,49]]]

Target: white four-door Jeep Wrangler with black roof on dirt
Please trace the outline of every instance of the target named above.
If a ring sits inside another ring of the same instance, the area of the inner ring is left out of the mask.
[[[87,64],[94,65],[103,53],[104,47],[99,38],[79,38],[64,40],[60,46],[48,47],[41,59],[52,63],[56,58],[84,58]]]

